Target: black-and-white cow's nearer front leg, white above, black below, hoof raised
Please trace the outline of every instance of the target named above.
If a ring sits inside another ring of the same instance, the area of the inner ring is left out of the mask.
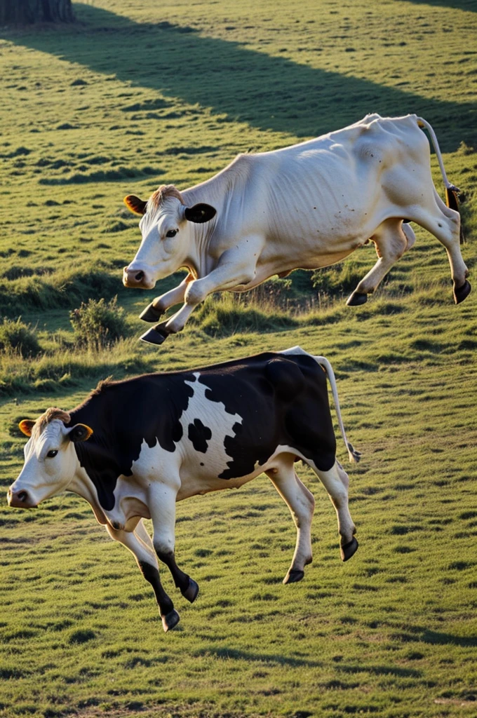
[[[175,562],[175,502],[177,488],[165,484],[155,485],[149,495],[149,510],[154,535],[152,544],[159,559],[172,574],[175,586],[182,596],[193,603],[198,596],[198,584],[185,574]]]

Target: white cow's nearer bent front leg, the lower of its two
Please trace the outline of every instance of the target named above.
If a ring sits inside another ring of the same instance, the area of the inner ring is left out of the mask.
[[[244,240],[241,240],[241,243]],[[203,279],[195,279],[188,284],[185,290],[185,303],[169,320],[161,322],[142,335],[144,342],[162,344],[170,334],[180,332],[193,313],[195,307],[203,302],[213,292],[226,292],[237,286],[250,284],[256,273],[256,262],[260,256],[263,240],[261,238],[248,238],[246,251],[236,248],[224,252],[216,269]]]

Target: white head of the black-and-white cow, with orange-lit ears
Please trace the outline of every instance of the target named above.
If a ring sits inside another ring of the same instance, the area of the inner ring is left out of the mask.
[[[68,487],[78,468],[75,442],[91,437],[93,429],[70,423],[70,414],[48,409],[37,421],[20,421],[20,430],[29,437],[24,447],[25,462],[7,494],[10,506],[34,508],[40,501]]]

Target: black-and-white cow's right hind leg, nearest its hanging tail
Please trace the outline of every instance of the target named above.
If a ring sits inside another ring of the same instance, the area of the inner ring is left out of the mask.
[[[348,561],[358,549],[358,541],[354,538],[356,526],[348,508],[348,474],[338,461],[335,461],[333,467],[328,471],[320,471],[315,465],[312,465],[312,468],[328,491],[331,503],[335,507],[338,517],[338,533],[340,534],[341,559]]]

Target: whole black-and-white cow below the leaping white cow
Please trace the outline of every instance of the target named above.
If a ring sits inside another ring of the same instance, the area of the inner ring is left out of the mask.
[[[30,438],[22,472],[9,488],[9,505],[33,508],[62,490],[85,498],[111,538],[136,557],[167,631],[179,615],[162,588],[156,554],[187,600],[198,595],[198,584],[175,562],[176,501],[238,488],[265,472],[297,526],[284,583],[300,581],[312,560],[315,500],[295,473],[298,459],[330,495],[343,561],[358,548],[348,475],[335,458],[327,375],[343,440],[356,461],[330,363],[295,347],[197,370],[102,382],[73,411],[52,408],[36,421],[24,419],[20,429]],[[152,519],[152,540],[143,518]]]

